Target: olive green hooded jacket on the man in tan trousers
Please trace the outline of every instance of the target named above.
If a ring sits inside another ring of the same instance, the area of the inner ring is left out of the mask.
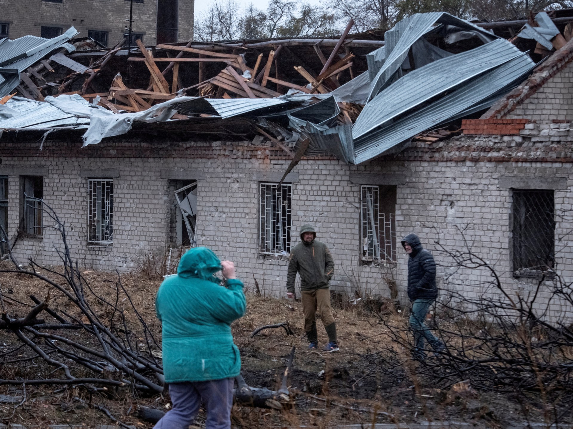
[[[303,241],[305,232],[314,232],[311,225],[303,225],[300,229],[300,243],[297,244],[289,256],[288,275],[286,277],[286,291],[295,292],[296,273],[300,274],[300,290],[316,291],[328,288],[328,283],[334,274],[334,260],[326,244],[318,240],[311,243]]]

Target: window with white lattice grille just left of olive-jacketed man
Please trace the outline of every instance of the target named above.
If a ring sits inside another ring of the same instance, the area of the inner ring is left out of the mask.
[[[291,184],[261,183],[261,253],[286,255],[291,251],[291,198]]]

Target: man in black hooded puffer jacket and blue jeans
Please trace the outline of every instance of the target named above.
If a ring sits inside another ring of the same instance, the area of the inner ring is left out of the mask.
[[[430,305],[438,296],[435,285],[435,261],[429,251],[422,247],[415,234],[409,234],[402,240],[402,246],[410,255],[408,259],[408,297],[412,302],[410,328],[414,332],[415,359],[424,360],[424,339],[435,351],[444,349],[444,344],[427,328],[424,320]]]

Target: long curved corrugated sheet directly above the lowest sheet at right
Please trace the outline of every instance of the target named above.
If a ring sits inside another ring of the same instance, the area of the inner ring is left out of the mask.
[[[431,98],[521,54],[513,43],[497,39],[413,70],[364,106],[352,128],[352,137],[358,138],[384,126],[393,118],[415,109]]]

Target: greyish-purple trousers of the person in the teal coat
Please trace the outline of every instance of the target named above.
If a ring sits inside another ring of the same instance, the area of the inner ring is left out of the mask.
[[[201,399],[207,408],[205,429],[230,429],[233,406],[233,378],[209,382],[170,383],[173,408],[154,429],[187,429],[197,416]]]

